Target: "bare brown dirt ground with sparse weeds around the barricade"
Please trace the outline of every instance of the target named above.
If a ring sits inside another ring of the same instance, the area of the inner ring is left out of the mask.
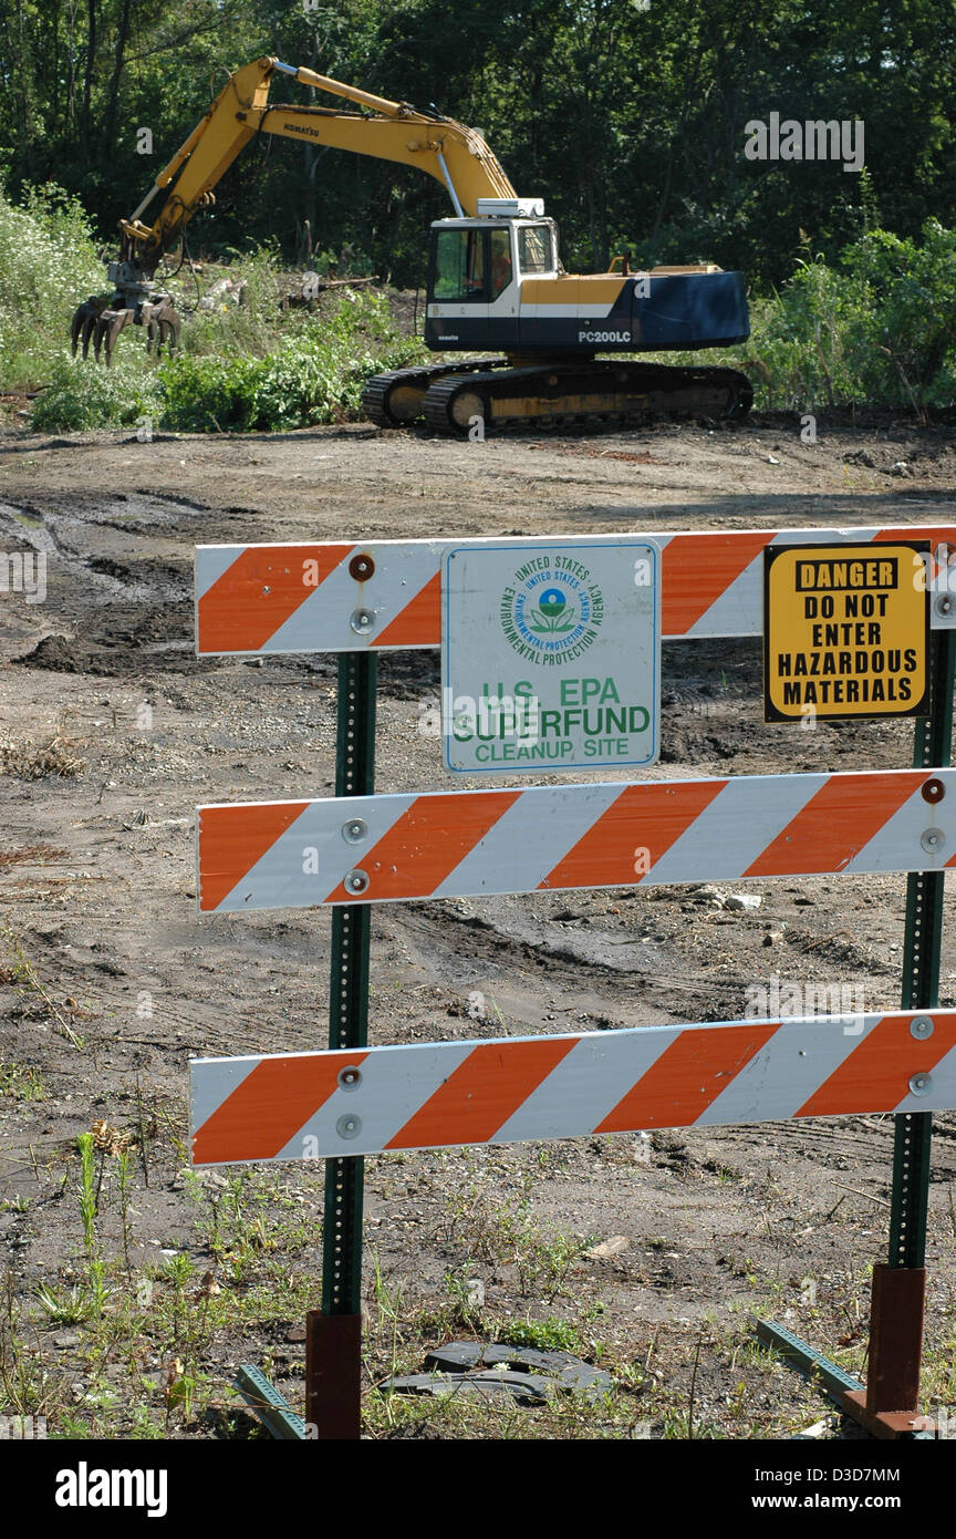
[[[956,428],[821,419],[808,445],[781,416],[484,443],[363,425],[140,443],[17,422],[0,434],[0,549],[45,551],[48,594],[0,596],[0,1402],[41,1402],[74,1434],[249,1436],[237,1362],[301,1400],[320,1171],[186,1173],[188,1060],[323,1047],[330,917],[200,917],[194,810],[332,791],[335,660],[197,660],[194,546],[956,522]],[[910,763],[911,723],[768,726],[759,688],[756,639],[666,645],[649,777]],[[381,657],[381,791],[452,783],[420,731],[437,693],[435,653]],[[692,888],[384,905],[370,1040],[732,1019],[773,979],[899,1003],[905,877],[747,891],[759,910]],[[118,1137],[100,1130],[85,1239],[77,1136],[97,1122]],[[529,1342],[610,1364],[630,1410],[564,1430],[527,1411],[510,1436],[792,1436],[830,1407],[753,1348],[753,1316],[862,1367],[891,1139],[891,1119],[855,1117],[370,1159],[369,1384],[443,1336],[524,1322]],[[942,1114],[928,1408],[956,1405],[954,1177]],[[95,1257],[109,1290],[91,1313]],[[160,1305],[188,1277],[203,1328],[183,1334]],[[501,1434],[437,1411],[383,1420],[373,1399],[372,1436]],[[824,1434],[855,1433],[832,1416]]]

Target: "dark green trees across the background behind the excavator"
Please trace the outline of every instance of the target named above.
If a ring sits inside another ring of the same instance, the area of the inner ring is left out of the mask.
[[[261,54],[480,126],[513,183],[543,194],[569,268],[712,259],[782,283],[810,240],[833,262],[862,231],[839,162],[753,162],[745,125],[861,120],[871,223],[956,225],[951,0],[0,0],[0,169],[55,180],[100,234],[140,202],[221,85]],[[277,100],[309,100],[278,82]],[[154,154],[137,154],[149,128]],[[447,212],[409,168],[263,135],[192,243],[277,239],[350,271],[423,280]],[[344,257],[343,257],[344,254]]]

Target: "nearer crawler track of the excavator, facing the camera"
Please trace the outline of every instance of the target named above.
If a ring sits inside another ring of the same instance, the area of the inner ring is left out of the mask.
[[[449,369],[429,385],[424,420],[437,432],[504,426],[639,422],[652,417],[739,420],[753,403],[745,374],[724,368],[590,359],[532,368]]]

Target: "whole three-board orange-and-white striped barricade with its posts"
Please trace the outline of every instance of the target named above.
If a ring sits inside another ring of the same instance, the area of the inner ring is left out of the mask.
[[[559,545],[573,551],[589,539],[593,542],[586,536],[521,539],[515,549]],[[343,962],[334,974],[334,996],[361,1030],[357,1027],[347,1040],[340,1031],[329,1051],[194,1063],[194,1160],[326,1157],[332,1170],[346,1171],[361,1167],[361,1154],[386,1148],[893,1113],[891,1264],[875,1271],[865,1394],[844,1402],[864,1425],[887,1436],[905,1430],[893,1417],[899,1420],[907,1407],[911,1422],[919,1385],[927,1111],[956,1105],[953,1013],[936,1008],[942,880],[956,865],[956,782],[948,768],[956,523],[655,531],[619,539],[646,539],[655,551],[655,571],[659,553],[661,633],[669,640],[764,634],[767,573],[775,566],[781,591],[788,585],[788,599],[796,597],[792,628],[798,634],[812,619],[799,600],[802,565],[818,563],[818,577],[855,586],[848,566],[862,562],[865,577],[873,548],[878,571],[896,559],[898,580],[911,566],[919,585],[922,562],[925,608],[908,596],[893,626],[898,648],[899,634],[919,622],[919,662],[911,669],[908,702],[888,702],[899,714],[907,703],[930,711],[916,717],[918,768],[372,794],[377,653],[437,648],[443,640],[441,573],[450,553],[472,545],[501,548],[507,540],[200,548],[200,654],[341,654],[337,797],[200,808],[200,908],[238,913],[330,905],[334,925],[354,930],[347,943],[341,940],[344,930],[337,933],[343,959],[352,962],[350,971]],[[787,556],[795,546],[807,548],[805,563],[799,551]],[[830,573],[828,549],[835,566],[844,553],[847,573]],[[844,609],[851,613],[847,600]],[[927,622],[931,645],[924,666]],[[815,636],[812,631],[813,646]],[[868,633],[867,642],[881,648],[879,637]],[[793,691],[785,686],[787,648],[782,651],[778,673],[784,683],[776,703],[770,702],[773,709],[768,705],[770,716],[802,711],[796,697],[787,697]],[[870,666],[876,671],[875,662]],[[862,694],[850,703],[867,708],[858,714],[873,714],[873,691],[865,699]],[[346,696],[352,705],[343,708]],[[366,703],[357,705],[361,700]],[[364,742],[361,783],[343,770],[355,760],[358,742]],[[910,873],[902,1013],[855,1017],[850,1025],[844,1017],[816,1017],[366,1047],[367,945],[360,937],[367,931],[355,926],[358,919],[367,920],[372,903],[876,871]],[[352,1265],[357,1287],[360,1196],[352,1217],[341,1205],[335,1213],[327,1208],[326,1228],[335,1230],[327,1277],[340,1279]],[[344,1256],[347,1247],[352,1264]],[[355,1311],[350,1324],[352,1356],[358,1359]],[[795,1348],[787,1333],[772,1339],[781,1345],[784,1336],[785,1350],[799,1356],[802,1344]],[[810,1348],[805,1353],[807,1360],[819,1362]],[[312,1377],[307,1367],[307,1384]],[[357,1384],[354,1373],[355,1428]]]

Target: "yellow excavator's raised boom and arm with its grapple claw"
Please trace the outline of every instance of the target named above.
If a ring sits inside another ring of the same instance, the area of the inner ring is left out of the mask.
[[[269,88],[277,74],[352,102],[361,111],[271,106]],[[109,362],[115,339],[131,323],[148,328],[148,345],[154,340],[160,346],[163,342],[175,345],[178,315],[171,295],[157,292],[154,274],[180,240],[184,225],[214,202],[217,183],[257,134],[281,134],[300,143],[329,145],[417,166],[443,183],[458,217],[475,214],[480,197],[515,195],[496,157],[473,128],[438,112],[421,112],[407,102],[390,102],[343,85],[314,69],[258,58],[229,77],[135,212],[120,220],[120,260],[109,265],[115,289],[112,295],[91,295],[77,309],[74,354],[81,342],[86,357],[92,340],[95,356],[103,346]],[[164,189],[169,191],[158,215],[152,225],[144,223],[144,209]]]

